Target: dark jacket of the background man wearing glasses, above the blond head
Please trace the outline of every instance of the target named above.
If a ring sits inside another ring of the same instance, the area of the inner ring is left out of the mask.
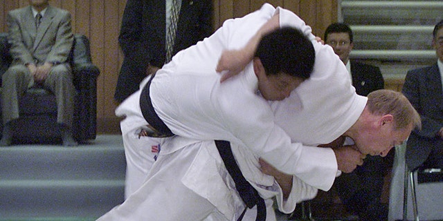
[[[374,90],[384,88],[380,68],[370,64],[351,61],[352,86],[358,95],[368,96]]]

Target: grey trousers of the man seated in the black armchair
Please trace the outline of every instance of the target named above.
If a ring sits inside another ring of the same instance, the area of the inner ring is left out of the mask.
[[[34,85],[34,78],[26,66],[15,65],[6,70],[2,76],[3,125],[19,118],[19,99]],[[53,66],[42,86],[51,90],[57,99],[57,123],[71,128],[75,95],[71,67],[68,64]]]

